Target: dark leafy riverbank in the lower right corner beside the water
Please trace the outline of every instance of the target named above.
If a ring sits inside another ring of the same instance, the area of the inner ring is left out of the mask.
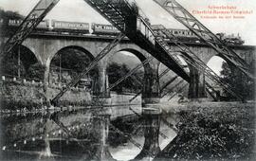
[[[255,103],[189,103],[178,134],[155,160],[254,160]]]

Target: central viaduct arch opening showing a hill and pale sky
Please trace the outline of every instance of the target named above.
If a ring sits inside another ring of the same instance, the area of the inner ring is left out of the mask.
[[[110,86],[120,78],[124,77],[129,71],[137,66],[137,64],[145,61],[146,58],[137,50],[125,49],[119,50],[109,59],[107,66],[108,80]],[[147,69],[146,69],[147,68]],[[121,81],[112,91],[118,93],[132,92],[138,93],[142,89],[145,70],[149,70],[149,64],[138,69],[132,76]]]

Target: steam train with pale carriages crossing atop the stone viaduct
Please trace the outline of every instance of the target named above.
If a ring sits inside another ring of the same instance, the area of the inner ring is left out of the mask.
[[[0,19],[0,25],[6,25],[9,28],[15,29],[15,27],[19,27],[22,23],[22,20],[9,20],[9,22],[4,22],[3,19]],[[144,23],[137,20],[137,29],[143,32],[145,36],[155,45],[154,36],[152,31],[144,27]],[[154,26],[152,26],[154,27]],[[79,22],[66,22],[66,21],[57,21],[57,20],[43,20],[39,23],[36,27],[34,32],[50,32],[50,33],[57,33],[57,34],[67,34],[67,35],[83,35],[83,34],[92,34],[92,35],[109,35],[115,36],[119,34],[119,30],[112,25],[102,25],[102,24],[91,24],[89,23],[79,23]],[[174,29],[168,28],[171,33],[173,33],[180,41],[182,42],[189,42],[189,43],[201,43],[201,40],[191,31],[188,29]],[[244,45],[245,41],[241,39],[241,37],[234,36],[234,35],[225,35],[224,33],[216,34],[224,43],[228,45]],[[204,37],[205,35],[203,35]]]

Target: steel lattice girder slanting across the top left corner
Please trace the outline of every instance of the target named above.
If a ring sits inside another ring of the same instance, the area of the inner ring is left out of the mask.
[[[37,25],[44,19],[46,14],[53,9],[53,7],[60,0],[41,0],[27,15],[26,19],[22,22],[16,32],[9,38],[7,43],[2,48],[1,57],[9,54],[11,49],[16,45],[22,44],[27,38],[29,33],[37,27]]]

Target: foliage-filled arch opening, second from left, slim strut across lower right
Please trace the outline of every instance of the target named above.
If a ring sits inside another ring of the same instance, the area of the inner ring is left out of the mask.
[[[78,76],[94,59],[93,55],[80,46],[66,46],[59,50],[50,62],[49,82],[67,83]],[[96,70],[91,70],[75,86],[91,88],[92,77]]]

